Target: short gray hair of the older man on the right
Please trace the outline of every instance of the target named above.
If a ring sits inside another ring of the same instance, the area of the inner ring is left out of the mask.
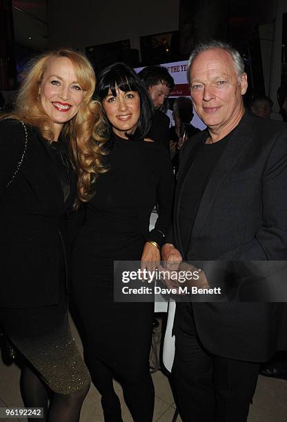
[[[211,41],[208,41],[206,43],[198,43],[197,46],[195,46],[195,49],[190,54],[190,57],[188,59],[188,70],[187,70],[187,77],[188,77],[188,83],[190,83],[190,68],[192,66],[193,61],[195,61],[196,57],[199,55],[199,53],[207,50],[225,50],[227,51],[234,63],[235,72],[237,73],[237,77],[239,81],[241,80],[242,74],[244,74],[244,61],[241,58],[239,52],[235,50],[230,44],[224,43],[223,41],[217,41],[212,39]]]

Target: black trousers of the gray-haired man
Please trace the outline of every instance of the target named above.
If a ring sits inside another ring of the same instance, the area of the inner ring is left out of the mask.
[[[172,383],[183,422],[245,422],[258,372],[258,363],[212,355],[194,332],[175,329]]]

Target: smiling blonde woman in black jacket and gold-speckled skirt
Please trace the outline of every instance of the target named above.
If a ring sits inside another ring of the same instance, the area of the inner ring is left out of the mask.
[[[0,121],[0,324],[23,356],[25,405],[43,408],[49,422],[79,421],[90,385],[68,325],[63,219],[77,196],[68,148],[75,166],[93,150],[101,172],[94,90],[86,57],[49,52],[30,66],[14,113]]]

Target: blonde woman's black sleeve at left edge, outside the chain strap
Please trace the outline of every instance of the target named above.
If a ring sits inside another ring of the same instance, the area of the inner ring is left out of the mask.
[[[20,121],[4,119],[0,121],[0,194],[12,180],[25,148],[26,134]],[[28,139],[29,142],[29,139]]]

